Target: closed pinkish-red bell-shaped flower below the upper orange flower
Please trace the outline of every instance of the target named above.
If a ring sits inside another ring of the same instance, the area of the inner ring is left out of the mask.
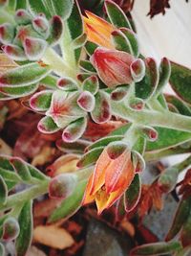
[[[130,84],[134,81],[131,66],[137,61],[132,55],[98,47],[91,62],[96,68],[99,78],[108,86],[114,87],[119,84]]]

